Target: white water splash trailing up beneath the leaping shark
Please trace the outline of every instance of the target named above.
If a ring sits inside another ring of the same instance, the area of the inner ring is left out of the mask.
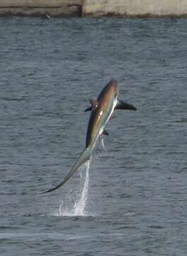
[[[89,168],[90,168],[90,161],[87,161],[83,167],[81,167],[81,182],[83,184],[83,188],[81,191],[81,196],[79,200],[74,202],[73,208],[70,208],[68,206],[64,206],[64,202],[60,202],[59,209],[55,211],[56,216],[86,216],[86,202],[89,195]],[[82,175],[82,172],[86,169],[85,178],[84,175]]]

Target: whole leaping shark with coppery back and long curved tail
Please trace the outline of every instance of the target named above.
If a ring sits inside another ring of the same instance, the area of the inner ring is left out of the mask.
[[[55,191],[57,188],[63,186],[67,181],[72,178],[73,174],[79,169],[79,167],[91,158],[91,153],[94,150],[98,137],[105,134],[108,135],[105,127],[108,120],[111,118],[114,110],[137,110],[136,107],[118,100],[118,84],[116,80],[111,80],[103,88],[98,95],[97,100],[90,100],[91,107],[88,107],[86,111],[91,111],[89,119],[89,125],[86,134],[86,146],[79,156],[79,159],[75,162],[72,170],[59,183],[55,188],[50,188],[47,191],[41,193],[49,193]]]

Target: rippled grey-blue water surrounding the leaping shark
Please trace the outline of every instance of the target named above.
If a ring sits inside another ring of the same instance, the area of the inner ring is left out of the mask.
[[[186,27],[0,19],[1,255],[186,255]],[[115,113],[86,181],[37,195],[74,164],[111,78],[138,111]]]

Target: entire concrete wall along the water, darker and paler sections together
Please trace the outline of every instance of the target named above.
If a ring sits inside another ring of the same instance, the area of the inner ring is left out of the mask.
[[[0,0],[0,16],[187,16],[187,0]]]

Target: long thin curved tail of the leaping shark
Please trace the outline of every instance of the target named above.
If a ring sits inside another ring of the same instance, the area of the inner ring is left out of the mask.
[[[64,178],[64,181],[62,181],[57,186],[55,186],[55,188],[50,188],[49,190],[40,192],[40,193],[49,193],[49,192],[55,191],[57,188],[60,188],[61,186],[63,186],[65,183],[67,183],[72,178],[74,173],[79,169],[79,167],[82,164],[84,164],[86,161],[89,161],[90,156],[91,156],[91,149],[90,148],[84,149],[84,151],[82,151],[82,153],[80,154],[79,159],[77,159],[74,166],[72,167],[72,170],[69,171],[69,174],[67,174],[67,176]]]

